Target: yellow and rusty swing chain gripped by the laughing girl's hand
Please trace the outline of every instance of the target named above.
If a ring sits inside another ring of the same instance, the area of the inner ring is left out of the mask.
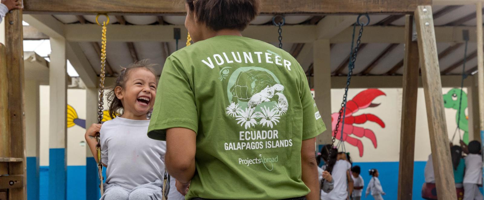
[[[101,37],[101,74],[99,75],[100,78],[100,83],[99,83],[99,105],[98,105],[98,116],[97,116],[97,123],[101,124],[103,122],[103,110],[104,110],[104,79],[106,77],[106,25],[109,24],[109,17],[106,14],[98,14],[96,16],[96,23],[101,26],[101,24],[98,21],[99,16],[104,15],[106,16],[107,20],[103,21],[103,34]],[[104,195],[104,186],[103,186],[103,164],[101,162],[101,140],[100,140],[100,133],[96,133],[96,151],[97,151],[97,172],[99,175],[99,189],[101,191],[101,196]]]

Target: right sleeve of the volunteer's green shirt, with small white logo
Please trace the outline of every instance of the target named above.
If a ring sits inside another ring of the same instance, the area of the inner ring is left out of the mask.
[[[302,74],[302,70],[300,74]],[[311,89],[309,89],[305,74],[302,74],[300,77],[300,83],[302,84],[300,86],[302,104],[302,140],[307,140],[326,131],[326,126],[319,114],[313,95],[311,95]]]

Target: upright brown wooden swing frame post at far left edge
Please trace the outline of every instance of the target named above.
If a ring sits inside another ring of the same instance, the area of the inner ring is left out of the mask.
[[[22,10],[12,10],[5,16],[5,53],[0,53],[0,95],[6,96],[1,103],[1,144],[6,145],[0,158],[0,199],[27,199],[25,117],[24,117],[24,51]],[[2,50],[3,51],[3,50]],[[4,61],[3,61],[4,60]],[[5,65],[5,66],[4,66]],[[4,74],[5,73],[5,74]],[[7,107],[4,107],[7,106]],[[9,141],[6,139],[10,139]],[[3,149],[3,147],[2,147]],[[6,172],[6,173],[5,173]]]

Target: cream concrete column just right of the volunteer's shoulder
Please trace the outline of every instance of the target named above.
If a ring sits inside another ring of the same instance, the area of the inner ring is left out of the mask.
[[[314,91],[316,105],[326,125],[326,131],[318,135],[316,144],[331,144],[331,67],[330,40],[320,39],[313,43]]]

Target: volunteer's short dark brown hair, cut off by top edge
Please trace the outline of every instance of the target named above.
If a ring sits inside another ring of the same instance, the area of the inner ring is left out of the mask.
[[[214,31],[243,31],[259,13],[259,0],[186,0],[197,21]]]

